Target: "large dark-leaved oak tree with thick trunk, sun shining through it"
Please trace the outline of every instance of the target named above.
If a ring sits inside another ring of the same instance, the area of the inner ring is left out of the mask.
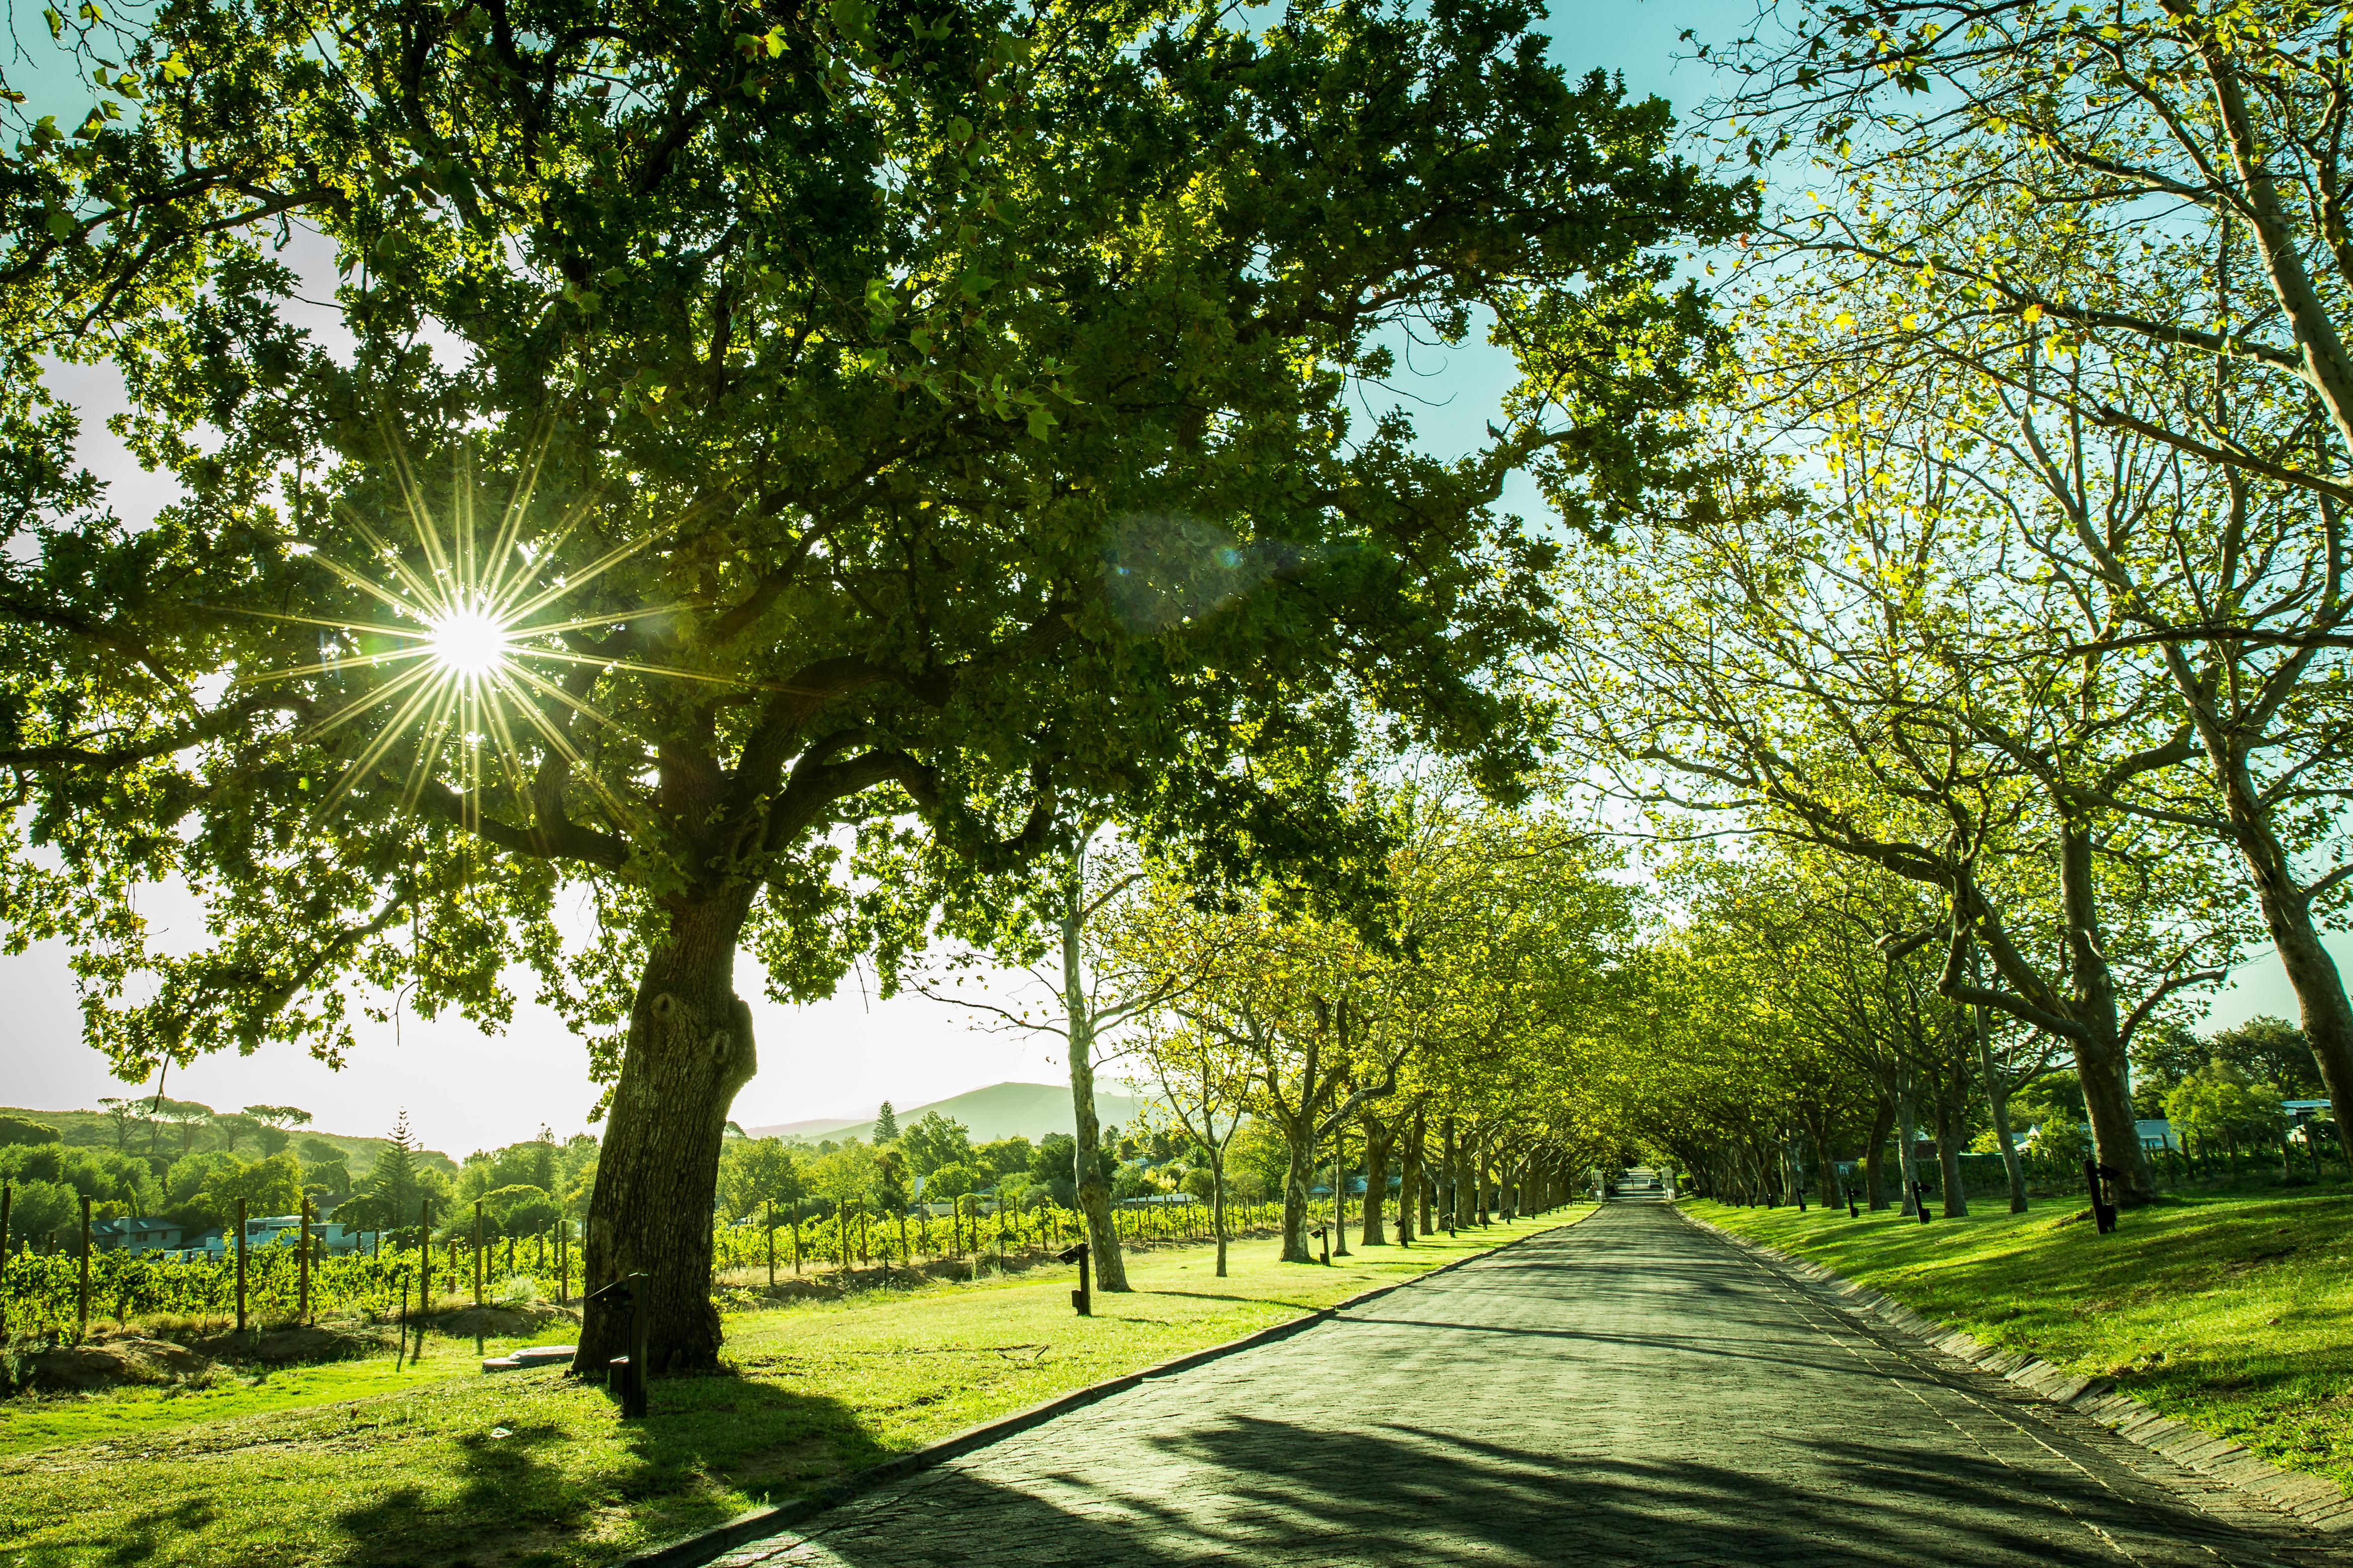
[[[14,929],[75,940],[125,1074],[339,1056],[355,983],[494,1025],[527,959],[609,1081],[591,1284],[652,1274],[656,1371],[711,1363],[736,952],[826,992],[927,896],[861,846],[1009,867],[1087,804],[1311,853],[1301,759],[1358,710],[1527,764],[1482,672],[1548,637],[1558,543],[1492,503],[1673,491],[1711,343],[1673,247],[1744,221],[1537,16],[162,7],[101,78],[139,108],[35,125],[5,190],[52,454]],[[1482,313],[1527,374],[1485,449],[1358,414]],[[153,527],[75,489],[35,350],[125,369]],[[151,945],[144,879],[209,945]],[[591,1309],[584,1366],[619,1335]]]

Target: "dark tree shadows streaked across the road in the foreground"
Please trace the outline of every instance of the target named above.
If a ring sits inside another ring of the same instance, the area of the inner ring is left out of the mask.
[[[1073,1432],[1073,1448],[1087,1436]],[[854,1568],[1247,1561],[1431,1563],[2118,1563],[2101,1533],[2191,1547],[2242,1537],[2188,1505],[2127,1502],[2097,1479],[2024,1476],[1984,1455],[1793,1443],[1755,1474],[1704,1460],[1560,1458],[1414,1427],[1315,1432],[1217,1420],[1146,1439],[1118,1481],[955,1469],[816,1535]],[[1920,1460],[1934,1460],[1925,1465]],[[1802,1481],[1802,1483],[1793,1483]],[[2245,1552],[2224,1552],[2245,1561]],[[2212,1559],[2207,1559],[2212,1561]]]

